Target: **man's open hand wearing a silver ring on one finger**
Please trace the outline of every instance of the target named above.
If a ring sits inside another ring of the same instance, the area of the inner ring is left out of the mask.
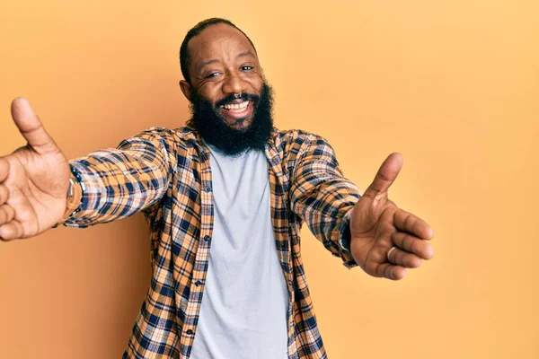
[[[354,206],[350,218],[350,251],[367,274],[398,280],[406,268],[420,267],[432,258],[432,228],[403,211],[387,197],[402,168],[402,155],[392,153],[382,163],[373,183]]]

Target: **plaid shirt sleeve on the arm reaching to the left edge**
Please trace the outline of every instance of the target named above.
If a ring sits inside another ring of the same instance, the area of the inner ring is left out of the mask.
[[[108,223],[145,210],[161,200],[176,168],[177,138],[152,127],[118,145],[69,161],[83,195],[66,227]]]

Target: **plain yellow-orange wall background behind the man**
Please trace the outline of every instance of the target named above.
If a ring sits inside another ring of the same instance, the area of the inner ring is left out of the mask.
[[[0,153],[25,96],[68,158],[189,117],[185,33],[210,16],[251,37],[276,123],[328,138],[366,188],[436,232],[393,283],[348,271],[304,230],[330,358],[539,357],[539,2],[0,0]],[[119,358],[150,277],[141,215],[0,243],[0,358]]]

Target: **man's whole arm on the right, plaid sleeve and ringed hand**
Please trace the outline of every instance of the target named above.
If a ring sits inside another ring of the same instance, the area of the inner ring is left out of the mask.
[[[429,224],[395,206],[387,195],[402,168],[399,153],[385,160],[359,196],[342,175],[331,145],[322,137],[305,137],[291,177],[291,206],[327,250],[346,267],[358,265],[370,276],[393,280],[432,258]]]

